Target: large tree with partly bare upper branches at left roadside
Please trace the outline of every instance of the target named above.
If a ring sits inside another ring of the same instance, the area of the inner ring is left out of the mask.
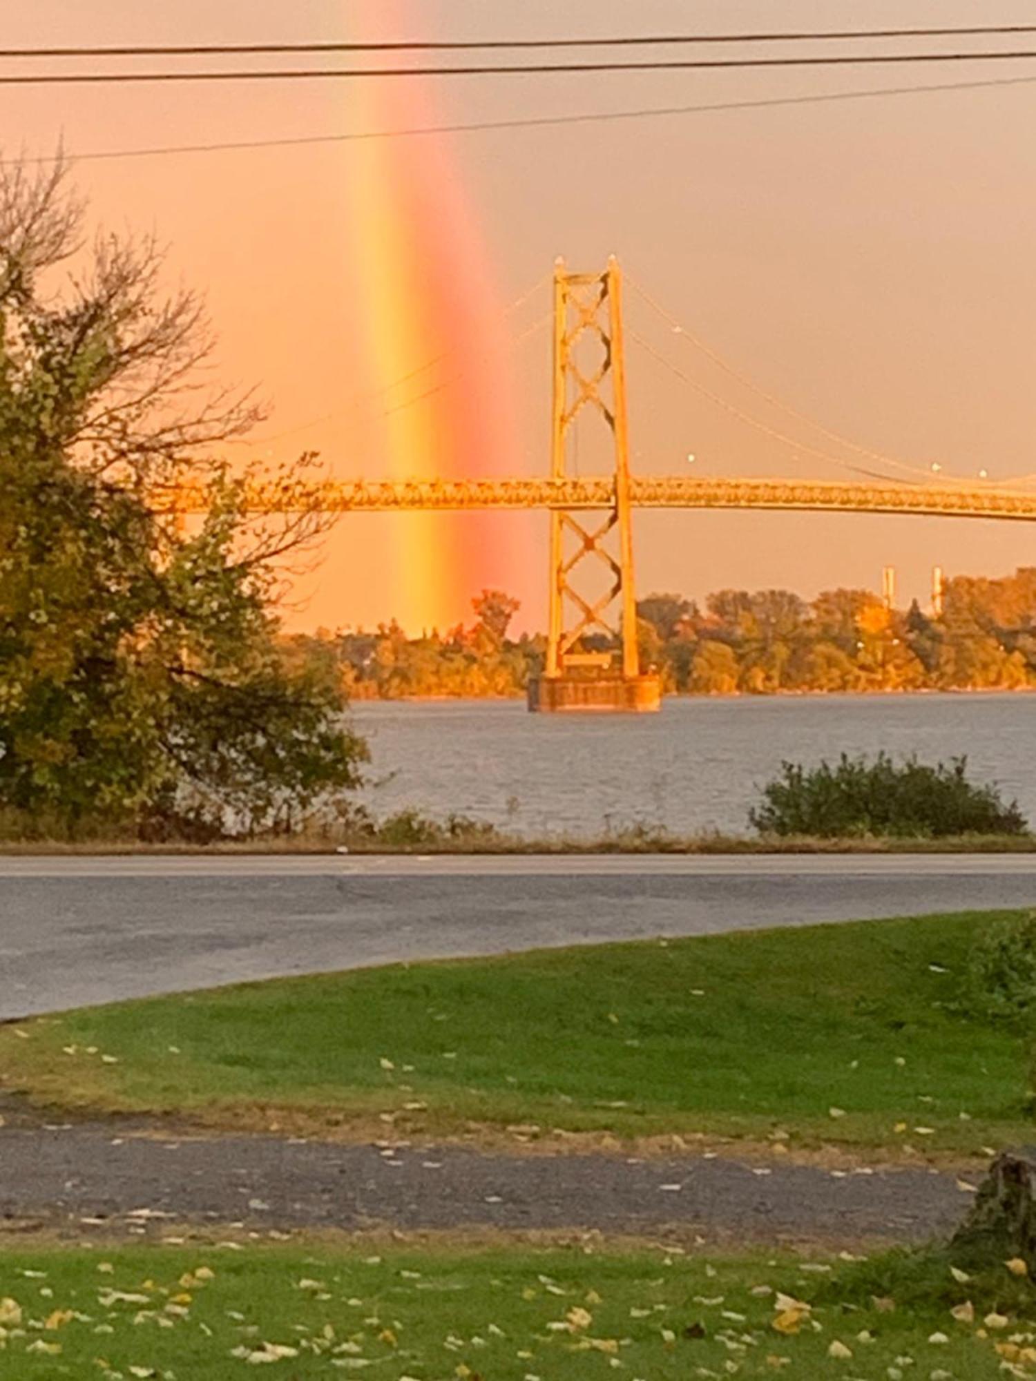
[[[271,613],[325,519],[297,494],[249,518],[218,449],[260,414],[204,391],[200,301],[163,293],[153,240],[83,226],[61,163],[0,171],[0,807],[285,824],[363,757],[330,659],[289,656]],[[200,487],[182,530],[171,500]]]

